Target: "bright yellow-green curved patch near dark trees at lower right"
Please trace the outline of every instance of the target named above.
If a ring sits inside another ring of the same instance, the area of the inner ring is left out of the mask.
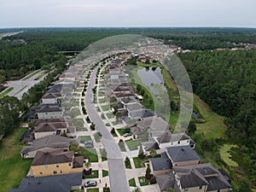
[[[223,147],[219,149],[219,154],[222,160],[224,160],[225,164],[227,166],[238,166],[236,161],[232,160],[232,155],[230,154],[231,148],[238,148],[237,145],[231,145],[231,144],[224,144]]]

